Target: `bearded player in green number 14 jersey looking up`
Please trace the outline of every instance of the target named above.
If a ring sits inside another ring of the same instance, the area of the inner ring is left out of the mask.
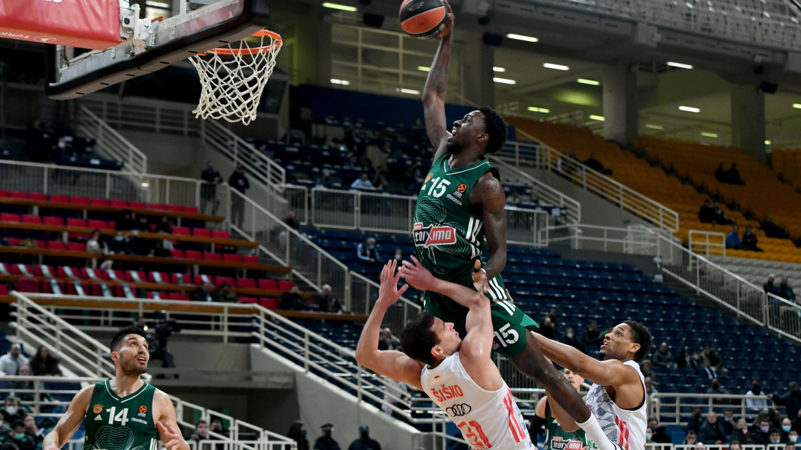
[[[45,436],[42,450],[61,448],[86,418],[86,450],[189,450],[178,431],[175,408],[164,392],[140,380],[150,353],[145,331],[130,326],[111,340],[115,377],[83,388]]]

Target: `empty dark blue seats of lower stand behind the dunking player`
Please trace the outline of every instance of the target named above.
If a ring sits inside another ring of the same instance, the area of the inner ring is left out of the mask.
[[[347,231],[305,230],[325,250],[337,255],[349,267],[376,278],[380,266],[356,261],[356,244],[368,235]],[[413,251],[408,236],[373,235],[380,254],[391,257],[395,247],[405,255]],[[690,352],[704,344],[718,348],[723,364],[730,370],[718,372],[721,383],[732,392],[745,392],[752,378],[763,380],[770,392],[785,385],[783,371],[793,368],[801,350],[777,340],[762,328],[739,325],[716,309],[702,308],[691,299],[679,297],[669,287],[643,275],[626,264],[572,261],[560,258],[553,250],[532,247],[509,247],[504,281],[515,304],[533,319],[540,319],[549,307],[555,307],[562,329],[574,327],[582,332],[590,320],[601,327],[623,319],[645,323],[654,342],[666,341],[674,355],[680,348]],[[681,320],[677,318],[681,317]],[[342,345],[354,346],[357,327],[328,326],[326,332]],[[731,346],[739,342],[749,352]],[[655,347],[654,347],[655,351]],[[691,369],[667,371],[657,368],[661,392],[705,393],[709,380]]]

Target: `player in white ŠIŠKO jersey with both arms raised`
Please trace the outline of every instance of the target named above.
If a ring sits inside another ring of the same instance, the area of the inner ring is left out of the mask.
[[[491,358],[493,323],[489,299],[484,295],[485,278],[473,291],[434,278],[421,266],[403,267],[397,274],[395,269],[393,260],[381,271],[378,301],[361,332],[356,361],[428,394],[457,424],[473,450],[536,450],[512,393]],[[464,339],[453,329],[453,323],[423,312],[400,335],[406,354],[378,350],[384,313],[409,287],[397,288],[401,276],[417,289],[440,292],[467,307]]]

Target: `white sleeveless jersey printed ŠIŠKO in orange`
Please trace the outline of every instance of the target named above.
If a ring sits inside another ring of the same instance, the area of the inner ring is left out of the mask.
[[[459,352],[436,368],[426,365],[420,383],[472,450],[536,450],[509,386],[504,382],[497,391],[480,388],[461,365]]]

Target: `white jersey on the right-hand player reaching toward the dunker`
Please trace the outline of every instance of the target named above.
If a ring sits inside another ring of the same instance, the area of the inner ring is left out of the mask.
[[[627,366],[637,370],[642,384],[642,404],[638,408],[620,408],[612,401],[606,388],[600,384],[594,384],[586,396],[587,407],[590,408],[606,437],[613,444],[620,445],[624,450],[641,450],[646,446],[646,385],[640,372],[640,365],[634,361],[626,361]],[[598,446],[587,436],[587,444],[590,449]]]

